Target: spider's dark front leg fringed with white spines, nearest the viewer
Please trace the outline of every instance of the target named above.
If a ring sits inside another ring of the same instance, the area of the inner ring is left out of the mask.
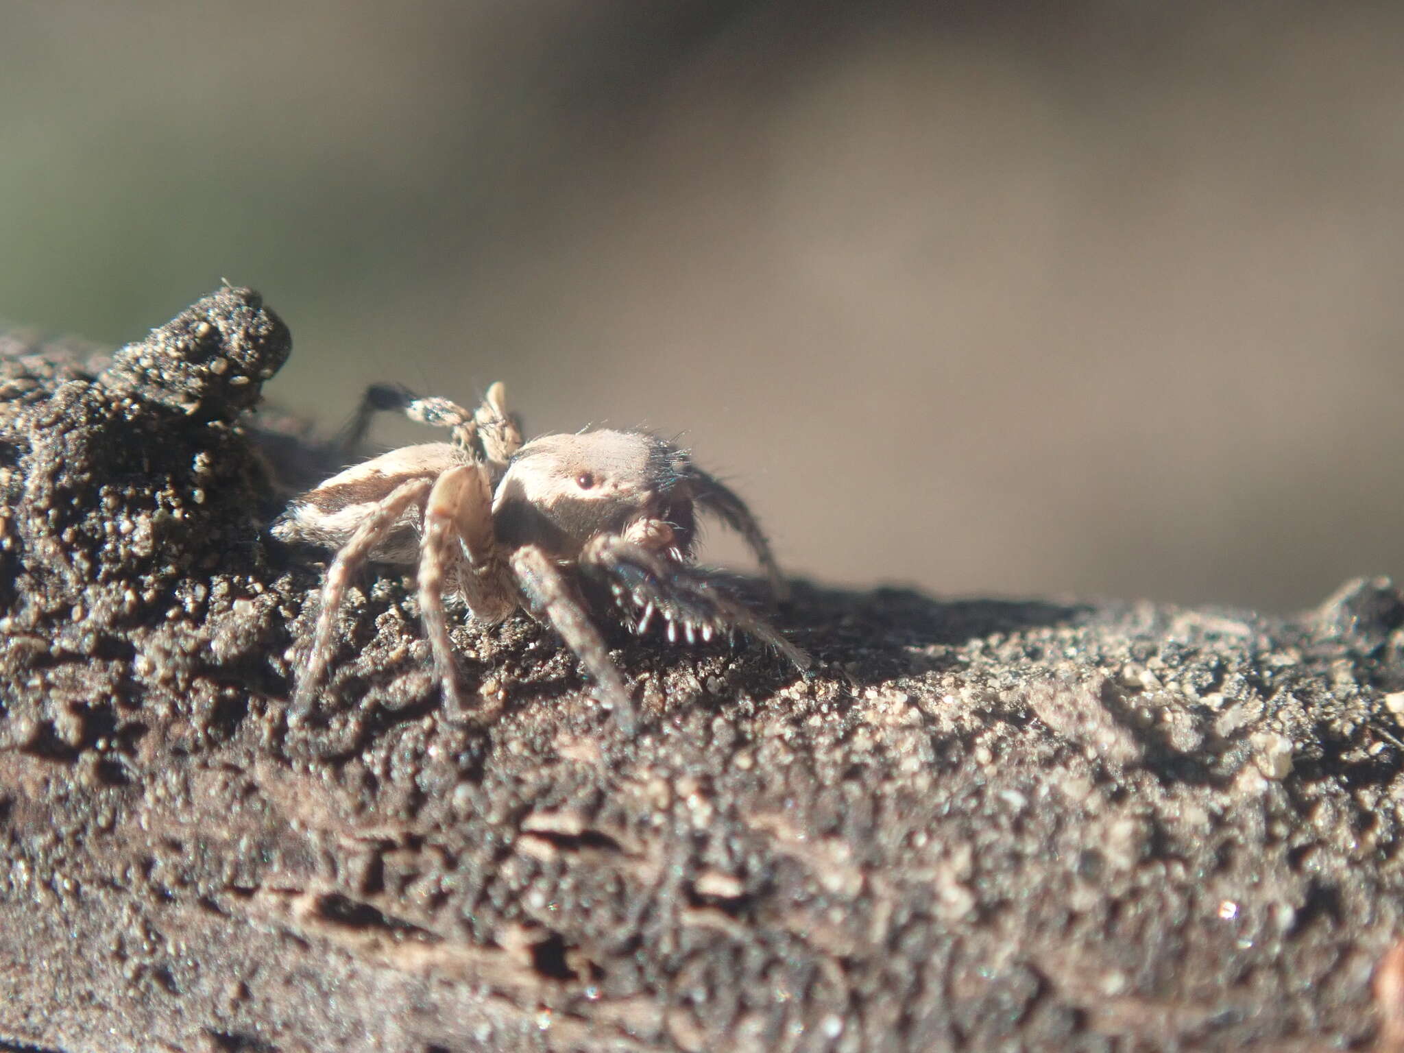
[[[591,541],[580,553],[580,566],[608,580],[616,601],[635,619],[633,629],[640,635],[658,615],[668,626],[670,640],[675,640],[680,632],[691,643],[698,636],[710,640],[719,632],[740,629],[768,643],[802,671],[813,664],[806,650],[785,639],[779,629],[758,618],[746,604],[726,595],[708,574],[664,559],[618,534],[602,534]]]

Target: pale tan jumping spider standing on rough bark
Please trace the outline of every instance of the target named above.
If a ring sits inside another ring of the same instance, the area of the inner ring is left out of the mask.
[[[594,678],[621,727],[633,703],[590,615],[607,597],[626,629],[665,626],[691,643],[741,630],[804,670],[810,657],[692,564],[696,517],[709,512],[753,549],[776,597],[771,546],[740,497],[675,445],[640,431],[542,435],[522,444],[504,389],[476,411],[403,388],[366,390],[348,445],[378,410],[448,428],[449,442],[403,446],[348,468],[295,500],[275,536],[336,549],[322,587],[312,649],[293,712],[306,713],[333,656],[337,612],[369,562],[418,566],[418,602],[445,705],[463,712],[444,609],[461,594],[473,618],[501,622],[519,608],[553,628]],[[658,619],[654,622],[654,619]]]

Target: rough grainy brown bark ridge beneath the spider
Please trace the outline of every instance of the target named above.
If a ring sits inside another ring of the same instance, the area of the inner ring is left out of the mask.
[[[0,1038],[98,1050],[1324,1049],[1401,929],[1404,598],[1276,621],[802,585],[797,680],[632,643],[622,736],[524,619],[352,591],[222,289],[105,364],[0,347]],[[1382,988],[1383,990],[1383,988]],[[1394,1007],[1386,1004],[1386,1016]],[[1386,1028],[1389,1031],[1389,1028]]]

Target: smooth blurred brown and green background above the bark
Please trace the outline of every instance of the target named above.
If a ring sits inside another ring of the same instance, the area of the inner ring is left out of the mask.
[[[327,431],[501,379],[823,581],[1287,611],[1404,576],[1401,55],[1351,0],[7,0],[0,317],[229,278]]]

